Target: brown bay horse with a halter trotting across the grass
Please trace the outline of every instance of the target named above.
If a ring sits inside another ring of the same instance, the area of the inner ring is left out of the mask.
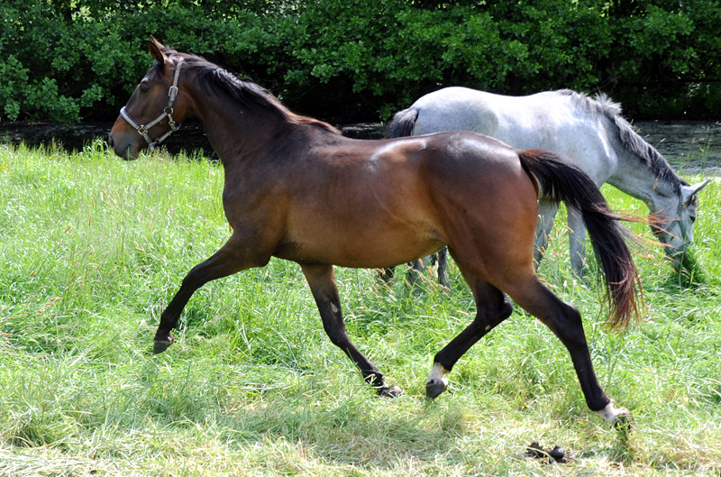
[[[539,194],[565,200],[589,227],[611,326],[626,326],[636,311],[638,277],[630,251],[617,217],[583,171],[550,152],[518,151],[477,133],[346,138],[202,58],[154,39],[150,50],[153,67],[108,142],[130,160],[186,118],[200,121],[224,166],[223,206],[233,227],[228,242],[187,274],[160,316],[155,353],[173,343],[171,330],[196,289],[278,257],[300,265],[333,344],[379,394],[394,396],[400,390],[388,387],[351,343],[333,265],[395,266],[448,246],[477,315],[435,355],[427,396],[441,394],[453,364],[511,315],[510,297],[566,346],[589,408],[614,424],[629,416],[598,384],[579,311],[544,287],[534,270]]]

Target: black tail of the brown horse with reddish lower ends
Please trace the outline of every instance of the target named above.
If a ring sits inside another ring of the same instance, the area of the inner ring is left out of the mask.
[[[638,316],[636,298],[641,284],[631,251],[624,242],[622,218],[609,209],[606,199],[583,170],[562,161],[549,151],[519,151],[525,172],[535,180],[541,197],[580,210],[589,231],[593,251],[601,264],[606,297],[611,306],[608,324],[625,329],[632,316]],[[636,288],[638,284],[638,288]]]

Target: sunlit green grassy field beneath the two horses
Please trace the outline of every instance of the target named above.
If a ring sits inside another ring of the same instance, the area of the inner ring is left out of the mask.
[[[450,294],[336,270],[351,338],[406,391],[398,399],[375,397],[330,343],[287,261],[200,289],[176,344],[153,355],[163,307],[229,236],[222,186],[204,160],[0,146],[0,475],[721,472],[718,181],[702,192],[693,279],[634,245],[646,307],[625,335],[605,330],[598,284],[573,280],[561,226],[539,271],[580,308],[599,381],[634,413],[630,436],[589,411],[561,343],[520,311],[427,402],[434,353],[474,313],[453,268]],[[526,458],[534,441],[570,462]]]

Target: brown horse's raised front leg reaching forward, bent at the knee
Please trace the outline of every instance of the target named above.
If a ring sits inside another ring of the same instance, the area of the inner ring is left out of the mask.
[[[249,269],[251,267],[261,267],[268,263],[270,255],[262,255],[257,252],[252,253],[249,250],[256,249],[252,247],[244,238],[238,234],[233,234],[224,246],[215,252],[208,260],[193,267],[183,279],[183,283],[178,289],[175,297],[163,314],[160,316],[160,325],[155,334],[155,342],[153,344],[153,353],[162,353],[173,344],[173,334],[171,330],[178,326],[178,319],[186,307],[187,301],[193,296],[196,289],[199,289],[205,283],[211,280],[221,279],[228,275],[233,275],[239,271]]]

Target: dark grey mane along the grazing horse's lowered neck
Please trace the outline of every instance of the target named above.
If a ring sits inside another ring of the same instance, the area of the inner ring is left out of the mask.
[[[605,93],[598,93],[595,98],[591,98],[584,93],[571,91],[570,89],[561,89],[558,93],[571,96],[578,105],[598,115],[605,115],[609,120],[613,121],[618,128],[621,143],[625,149],[634,152],[634,154],[653,171],[656,177],[669,184],[675,193],[680,193],[682,185],[689,185],[685,180],[680,179],[680,177],[676,175],[676,172],[674,172],[661,152],[656,151],[651,144],[643,141],[643,138],[634,131],[633,126],[621,115],[621,105],[614,103]]]

